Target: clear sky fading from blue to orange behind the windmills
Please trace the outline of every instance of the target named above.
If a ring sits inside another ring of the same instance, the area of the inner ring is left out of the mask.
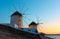
[[[0,23],[10,23],[10,15],[16,10],[26,14],[23,20],[28,24],[41,19],[39,31],[60,34],[60,0],[0,0]]]

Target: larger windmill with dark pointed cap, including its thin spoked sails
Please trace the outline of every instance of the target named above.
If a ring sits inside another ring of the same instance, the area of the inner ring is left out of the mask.
[[[10,24],[11,24],[11,26],[13,26],[15,28],[23,28],[24,27],[24,23],[25,23],[25,25],[27,25],[27,27],[28,27],[29,23],[26,21],[26,19],[28,19],[28,21],[29,20],[31,21],[31,19],[29,19],[28,16],[27,16],[27,15],[30,15],[30,14],[28,14],[28,13],[25,14],[25,13],[26,13],[26,11],[29,8],[28,7],[27,8],[24,7],[26,4],[21,5],[19,3],[19,5],[20,5],[18,7],[19,9],[17,9],[15,4],[13,4],[13,8],[14,8],[15,12],[11,15]],[[9,9],[9,11],[13,12],[12,9]]]

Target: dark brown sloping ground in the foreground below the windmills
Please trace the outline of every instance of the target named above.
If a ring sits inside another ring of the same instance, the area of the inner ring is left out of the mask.
[[[40,39],[40,36],[0,24],[0,39]]]

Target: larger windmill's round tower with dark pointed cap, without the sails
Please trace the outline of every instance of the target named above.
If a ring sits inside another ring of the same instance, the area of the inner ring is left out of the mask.
[[[10,20],[10,24],[13,27],[16,28],[22,28],[23,27],[23,21],[22,21],[22,14],[19,13],[18,11],[15,11],[12,15],[11,15],[11,20]]]

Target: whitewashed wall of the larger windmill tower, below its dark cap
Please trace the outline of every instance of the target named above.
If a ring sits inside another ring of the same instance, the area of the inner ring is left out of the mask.
[[[11,17],[10,24],[13,27],[17,27],[17,28],[22,27],[22,24],[23,24],[22,19],[21,18],[19,19],[19,17],[20,16],[18,16],[18,15],[14,15],[14,16]],[[21,20],[21,21],[19,21],[19,20]]]

